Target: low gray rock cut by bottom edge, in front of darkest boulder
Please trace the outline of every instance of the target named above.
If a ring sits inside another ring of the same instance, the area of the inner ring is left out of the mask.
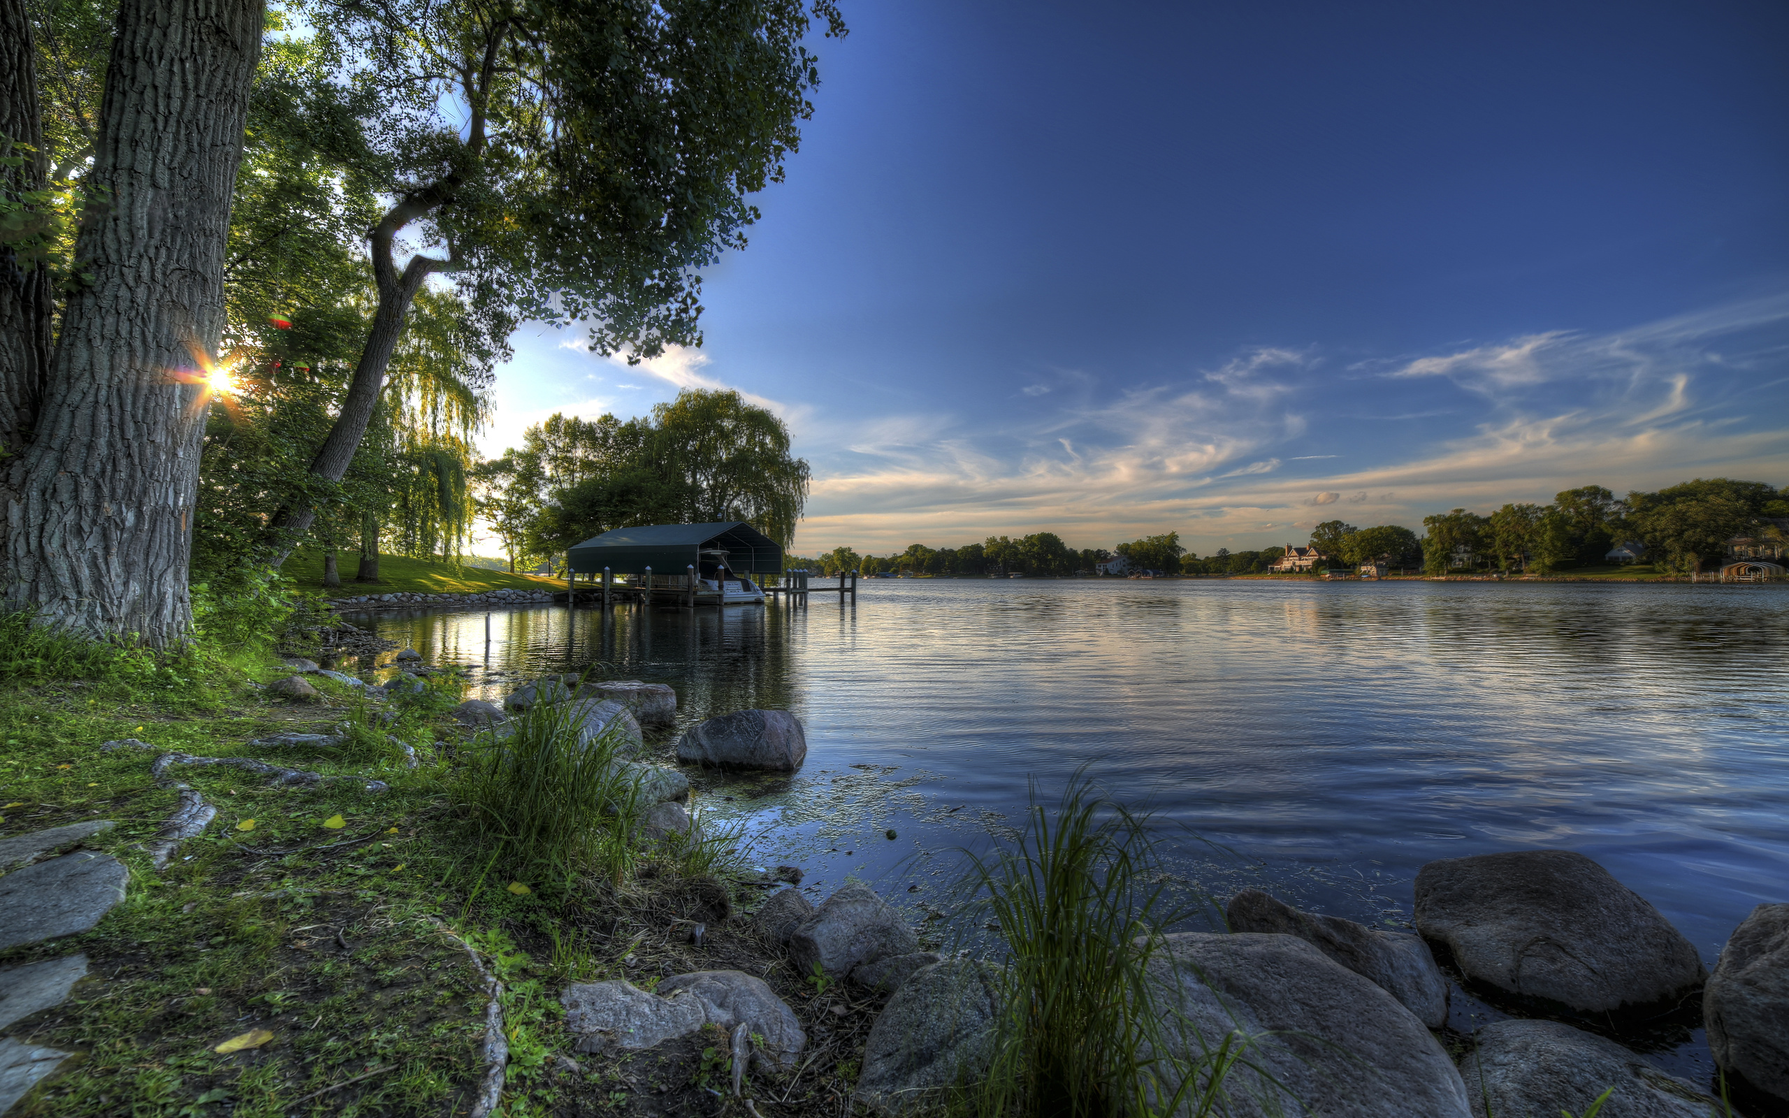
[[[1615,1041],[1558,1021],[1497,1021],[1472,1034],[1460,1079],[1478,1118],[1583,1114],[1615,1088],[1598,1118],[1712,1118],[1721,1104]]]

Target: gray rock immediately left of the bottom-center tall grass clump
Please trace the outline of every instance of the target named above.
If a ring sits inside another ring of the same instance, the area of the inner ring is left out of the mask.
[[[920,968],[869,1027],[853,1100],[884,1114],[930,1109],[943,1088],[988,1075],[998,1018],[995,968],[968,959]]]

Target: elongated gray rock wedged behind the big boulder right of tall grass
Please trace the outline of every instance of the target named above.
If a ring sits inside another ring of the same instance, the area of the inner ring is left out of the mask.
[[[1315,916],[1259,889],[1243,889],[1225,909],[1231,932],[1297,936],[1363,978],[1370,978],[1429,1029],[1447,1023],[1447,978],[1429,944],[1340,916]]]

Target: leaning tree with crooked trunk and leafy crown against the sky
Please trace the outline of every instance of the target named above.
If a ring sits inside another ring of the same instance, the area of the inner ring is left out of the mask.
[[[453,283],[490,322],[590,324],[630,360],[699,345],[699,270],[744,247],[784,174],[832,0],[317,0],[394,199],[369,234],[377,306],[311,472],[338,481],[417,293]],[[453,109],[453,114],[449,114]],[[408,256],[406,256],[408,252]],[[311,504],[276,519],[284,549]]]

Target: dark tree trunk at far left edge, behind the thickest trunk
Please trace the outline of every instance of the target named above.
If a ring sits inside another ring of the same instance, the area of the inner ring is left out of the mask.
[[[0,156],[27,157],[23,166],[0,166],[7,195],[47,186],[38,57],[23,0],[0,0]],[[0,453],[16,453],[30,436],[50,376],[54,309],[50,270],[21,267],[11,247],[0,247]]]

